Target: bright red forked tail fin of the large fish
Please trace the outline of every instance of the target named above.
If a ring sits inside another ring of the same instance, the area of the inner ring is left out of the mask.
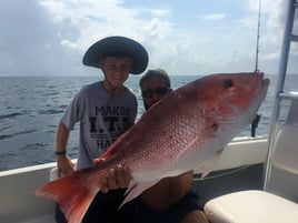
[[[67,176],[51,181],[34,193],[54,200],[69,223],[80,223],[91,201],[99,191],[86,183],[85,172],[78,171]]]

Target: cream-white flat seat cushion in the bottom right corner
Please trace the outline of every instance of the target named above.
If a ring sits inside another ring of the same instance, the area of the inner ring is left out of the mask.
[[[240,191],[210,200],[203,207],[211,223],[297,223],[298,204],[266,191]]]

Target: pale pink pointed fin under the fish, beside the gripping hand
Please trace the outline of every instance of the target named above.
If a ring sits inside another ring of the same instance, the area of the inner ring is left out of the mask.
[[[130,202],[131,200],[136,199],[138,195],[140,195],[143,191],[146,191],[147,189],[151,187],[152,185],[155,185],[158,181],[153,181],[153,182],[141,182],[141,183],[137,183],[133,184],[133,182],[131,184],[129,184],[127,191],[126,191],[126,199],[123,200],[123,202],[121,203],[121,205],[119,206],[119,209],[125,205],[126,203]]]

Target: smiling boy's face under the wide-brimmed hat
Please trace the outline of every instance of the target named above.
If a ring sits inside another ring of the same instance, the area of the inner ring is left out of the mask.
[[[101,61],[101,69],[108,82],[118,88],[127,80],[131,64],[129,57],[107,57]]]

